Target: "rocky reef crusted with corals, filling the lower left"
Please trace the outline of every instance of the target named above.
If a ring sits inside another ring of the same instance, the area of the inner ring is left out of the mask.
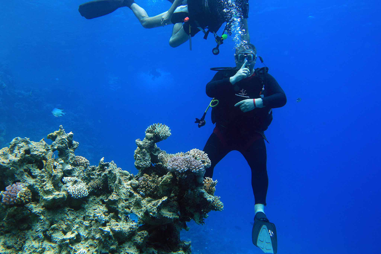
[[[62,126],[51,145],[14,138],[0,150],[0,253],[190,254],[180,231],[223,204],[203,179],[205,153],[156,145],[170,135],[154,124],[136,140],[136,176],[103,158],[90,166]]]

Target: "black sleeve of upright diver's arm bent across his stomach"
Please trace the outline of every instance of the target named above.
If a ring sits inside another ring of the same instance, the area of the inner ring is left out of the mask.
[[[275,78],[270,74],[266,75],[265,89],[268,92],[268,96],[262,98],[263,107],[280,108],[286,105],[287,98]]]

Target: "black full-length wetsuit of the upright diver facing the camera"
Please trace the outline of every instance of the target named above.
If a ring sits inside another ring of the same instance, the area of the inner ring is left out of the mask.
[[[268,177],[263,131],[271,123],[271,109],[284,106],[286,95],[270,74],[263,74],[260,79],[256,72],[255,75],[232,85],[229,78],[235,72],[227,74],[219,71],[206,85],[206,94],[218,99],[219,104],[212,109],[212,122],[216,127],[204,147],[204,152],[211,160],[211,167],[206,169],[205,177],[212,177],[215,165],[230,151],[237,150],[242,153],[252,170],[255,203],[266,204]],[[263,108],[244,113],[234,106],[245,99],[259,98],[262,81],[265,84],[262,92]],[[232,170],[234,173],[241,169]]]

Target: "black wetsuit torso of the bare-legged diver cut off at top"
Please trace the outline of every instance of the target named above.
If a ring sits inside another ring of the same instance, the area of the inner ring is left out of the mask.
[[[224,0],[188,0],[189,18],[188,22],[183,24],[184,31],[189,35],[189,26],[191,25],[191,36],[193,37],[202,27],[211,32],[217,32],[224,22],[232,19],[233,15],[240,18],[248,18],[249,2],[248,0],[233,1],[236,6],[227,6]],[[237,13],[236,13],[237,12]]]

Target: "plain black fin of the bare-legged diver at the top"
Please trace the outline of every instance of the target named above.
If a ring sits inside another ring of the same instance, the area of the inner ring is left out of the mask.
[[[116,9],[125,6],[124,0],[95,0],[79,5],[78,11],[87,19],[107,15]]]

